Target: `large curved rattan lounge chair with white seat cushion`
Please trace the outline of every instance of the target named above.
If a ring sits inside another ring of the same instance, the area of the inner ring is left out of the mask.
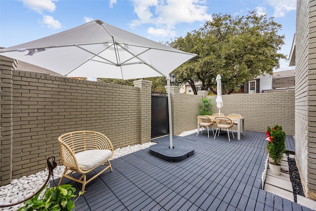
[[[63,178],[66,177],[81,183],[83,193],[88,182],[106,169],[112,171],[109,159],[113,156],[114,148],[104,134],[95,131],[69,132],[59,136],[58,142],[61,160],[66,167],[58,185],[61,185]],[[101,165],[106,167],[86,180],[86,174]],[[71,176],[74,171],[82,174],[79,179]]]

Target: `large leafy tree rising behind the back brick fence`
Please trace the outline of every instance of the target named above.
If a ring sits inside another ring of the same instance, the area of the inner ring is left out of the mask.
[[[230,94],[245,81],[273,74],[273,69],[279,67],[279,59],[286,59],[277,52],[284,44],[284,35],[278,35],[281,25],[273,18],[258,16],[255,10],[241,17],[229,14],[212,17],[198,31],[166,42],[197,54],[173,72],[179,84],[189,83],[195,94],[198,81],[202,90],[217,94],[217,74],[222,77],[223,94]]]

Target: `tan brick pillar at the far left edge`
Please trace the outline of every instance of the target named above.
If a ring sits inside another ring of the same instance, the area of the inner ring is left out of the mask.
[[[12,180],[12,92],[17,61],[0,56],[0,185]]]

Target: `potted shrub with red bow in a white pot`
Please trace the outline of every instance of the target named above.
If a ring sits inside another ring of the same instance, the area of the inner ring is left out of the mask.
[[[281,172],[281,159],[286,149],[285,132],[282,130],[282,126],[275,125],[272,128],[268,126],[266,134],[266,148],[269,158],[272,158],[272,161],[269,161],[270,171],[273,174],[279,175]]]

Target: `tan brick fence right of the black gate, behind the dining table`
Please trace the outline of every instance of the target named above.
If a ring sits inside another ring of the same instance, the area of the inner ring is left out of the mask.
[[[216,95],[207,96],[206,91],[198,91],[198,95],[178,93],[179,88],[171,90],[173,133],[197,128],[197,114],[201,98],[208,97],[213,102],[213,112],[218,113]],[[222,95],[221,113],[240,114],[245,117],[245,130],[266,131],[267,126],[281,125],[288,135],[295,131],[295,91],[262,92],[253,94]],[[236,126],[234,126],[235,129]],[[233,127],[233,128],[234,128]]]

